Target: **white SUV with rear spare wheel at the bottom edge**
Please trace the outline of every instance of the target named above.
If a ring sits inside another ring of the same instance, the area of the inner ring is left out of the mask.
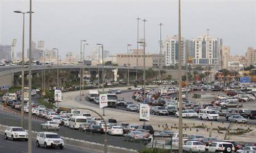
[[[205,150],[209,152],[231,153],[235,151],[235,148],[230,142],[214,141],[206,146]]]

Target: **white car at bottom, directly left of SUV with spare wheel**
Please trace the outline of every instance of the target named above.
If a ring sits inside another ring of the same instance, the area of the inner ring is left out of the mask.
[[[183,149],[186,151],[205,151],[205,145],[200,141],[186,141]]]

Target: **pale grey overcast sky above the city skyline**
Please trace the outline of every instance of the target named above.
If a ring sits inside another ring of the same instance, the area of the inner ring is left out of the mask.
[[[232,55],[245,55],[247,47],[256,43],[256,0],[181,0],[182,37],[191,39],[206,34],[222,38],[230,46]],[[0,0],[0,43],[11,44],[17,39],[21,50],[22,14],[29,11],[29,1]],[[45,48],[59,48],[60,55],[80,52],[80,40],[90,44],[103,43],[110,54],[126,53],[127,44],[137,47],[137,17],[146,19],[146,52],[158,53],[160,26],[162,39],[178,34],[178,0],[175,1],[87,1],[34,0],[32,10],[32,40],[45,41]],[[26,48],[29,40],[29,15],[26,16]],[[139,37],[143,36],[143,22],[139,22]]]

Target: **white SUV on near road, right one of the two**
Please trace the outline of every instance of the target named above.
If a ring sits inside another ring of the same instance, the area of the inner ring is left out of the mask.
[[[64,141],[57,133],[38,132],[36,136],[36,146],[44,146],[45,148],[59,147],[60,149],[63,149]]]

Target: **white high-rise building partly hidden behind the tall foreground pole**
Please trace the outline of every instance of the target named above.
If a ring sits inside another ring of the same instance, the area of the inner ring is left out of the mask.
[[[179,37],[177,35],[167,36],[164,41],[163,52],[165,55],[165,65],[178,64],[179,60]],[[185,39],[181,38],[181,63],[185,64]]]

